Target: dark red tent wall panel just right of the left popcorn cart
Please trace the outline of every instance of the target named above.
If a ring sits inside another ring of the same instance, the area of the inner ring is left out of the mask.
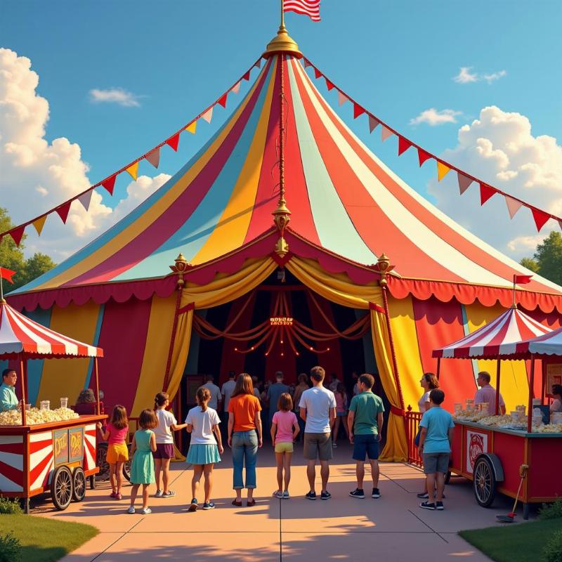
[[[105,357],[99,361],[100,390],[108,414],[117,404],[131,412],[138,377],[145,354],[148,320],[152,301],[130,299],[125,303],[109,301],[105,305],[98,346]],[[165,365],[162,365],[164,370]],[[157,376],[157,374],[155,374]],[[147,404],[146,407],[152,407]]]

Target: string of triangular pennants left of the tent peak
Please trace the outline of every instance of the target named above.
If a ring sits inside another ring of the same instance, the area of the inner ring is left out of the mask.
[[[75,200],[78,200],[81,203],[82,207],[84,207],[84,209],[87,212],[90,208],[93,190],[101,186],[105,188],[105,190],[110,195],[113,195],[113,190],[115,189],[115,180],[117,176],[119,176],[119,174],[122,174],[122,172],[124,171],[126,171],[129,174],[129,176],[131,176],[131,178],[133,178],[133,180],[136,181],[136,179],[138,178],[138,164],[143,159],[145,159],[147,162],[152,164],[152,166],[157,168],[160,163],[160,149],[162,148],[162,146],[168,145],[172,150],[174,150],[174,152],[177,152],[179,141],[180,141],[180,135],[181,133],[183,133],[183,131],[188,131],[188,133],[192,133],[193,135],[195,135],[195,131],[197,130],[197,121],[199,121],[199,119],[204,119],[204,121],[206,121],[207,123],[211,123],[211,119],[213,118],[213,107],[218,104],[221,105],[221,107],[226,108],[228,94],[230,92],[232,93],[240,92],[240,85],[242,84],[242,80],[249,81],[251,70],[254,67],[261,68],[261,59],[262,57],[256,60],[256,62],[250,67],[250,69],[247,70],[247,72],[245,72],[242,75],[242,78],[236,81],[233,86],[231,86],[225,93],[223,93],[223,95],[220,98],[218,98],[218,100],[216,100],[209,107],[207,107],[207,109],[204,110],[204,112],[202,112],[198,117],[193,119],[192,122],[188,123],[182,129],[174,133],[174,135],[172,135],[169,138],[166,138],[164,142],[160,143],[155,148],[152,148],[152,150],[149,150],[145,155],[136,159],[134,162],[131,162],[131,164],[129,164],[128,166],[124,166],[115,174],[112,174],[112,176],[105,178],[105,180],[100,181],[100,183],[96,183],[95,185],[92,185],[91,188],[89,188],[89,190],[81,193],[80,195],[77,195],[76,197],[73,197],[72,199],[64,202],[63,204],[60,204],[58,207],[51,209],[51,211],[47,211],[45,214],[37,218],[34,218],[32,221],[28,221],[27,223],[24,223],[16,228],[12,228],[11,230],[6,231],[5,233],[1,233],[0,242],[5,235],[9,234],[12,237],[15,244],[19,246],[20,242],[22,241],[25,228],[29,225],[33,225],[35,230],[37,231],[37,235],[40,236],[41,232],[43,231],[43,227],[45,226],[47,216],[54,212],[58,214],[58,216],[60,216],[60,220],[66,224],[68,214],[70,212],[70,207],[72,205],[72,202],[74,202]],[[327,82],[327,85],[328,84],[329,83]],[[331,84],[328,87],[329,89],[332,89],[334,88],[334,85]]]

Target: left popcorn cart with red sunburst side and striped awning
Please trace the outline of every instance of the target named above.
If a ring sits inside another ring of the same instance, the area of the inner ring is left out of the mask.
[[[53,332],[0,301],[0,359],[8,359],[20,378],[18,409],[0,412],[0,495],[18,497],[30,511],[30,497],[50,492],[57,509],[86,495],[86,479],[95,486],[96,423],[105,419],[99,410],[98,357],[103,350]],[[51,410],[27,403],[27,360],[93,358],[98,408],[96,414],[79,416],[60,399]]]

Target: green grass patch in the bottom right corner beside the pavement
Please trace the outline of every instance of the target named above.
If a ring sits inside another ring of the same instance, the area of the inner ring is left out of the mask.
[[[459,535],[496,562],[540,560],[545,542],[562,527],[561,519],[460,531]]]

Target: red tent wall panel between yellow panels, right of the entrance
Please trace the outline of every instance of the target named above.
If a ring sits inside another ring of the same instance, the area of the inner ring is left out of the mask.
[[[412,297],[412,303],[421,365],[424,372],[436,372],[437,360],[431,357],[433,349],[464,337],[461,305],[455,300],[442,303],[434,297],[426,301]],[[445,392],[447,410],[452,410],[456,402],[464,403],[466,398],[473,398],[476,385],[472,362],[464,359],[442,359],[439,384]]]

